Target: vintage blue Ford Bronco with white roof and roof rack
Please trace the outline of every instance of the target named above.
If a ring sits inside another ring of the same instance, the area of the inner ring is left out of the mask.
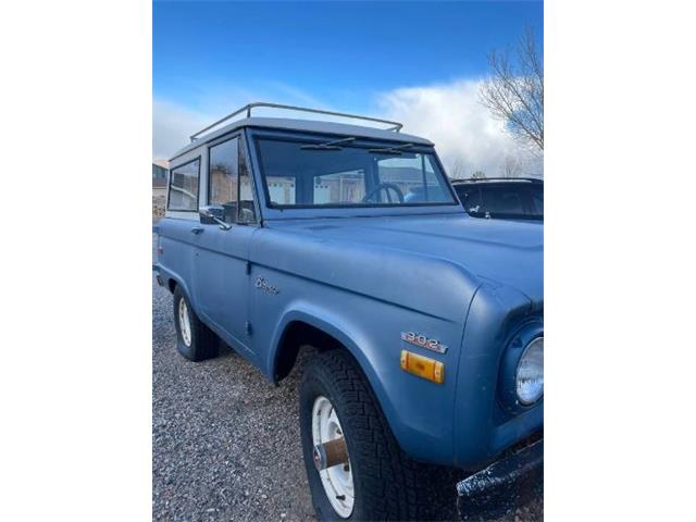
[[[470,217],[400,124],[258,107],[300,110],[252,103],[170,161],[154,270],[178,351],[222,339],[277,383],[313,347],[299,422],[321,520],[438,518],[452,469],[460,508],[513,505],[543,464],[543,227]]]

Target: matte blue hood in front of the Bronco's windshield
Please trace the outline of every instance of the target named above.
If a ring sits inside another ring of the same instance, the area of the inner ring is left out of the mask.
[[[511,286],[535,303],[544,300],[543,223],[442,214],[288,220],[273,227],[443,259],[482,283]]]

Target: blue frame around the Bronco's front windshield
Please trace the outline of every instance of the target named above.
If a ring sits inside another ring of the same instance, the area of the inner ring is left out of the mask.
[[[337,135],[326,133],[308,133],[297,130],[275,130],[262,127],[249,127],[249,144],[252,156],[254,173],[258,175],[258,186],[262,187],[261,194],[264,198],[265,215],[268,217],[281,216],[328,216],[328,215],[398,215],[398,214],[421,214],[421,213],[462,213],[463,208],[459,202],[457,192],[451,187],[445,169],[435,152],[432,144],[413,142],[408,149],[408,153],[428,154],[434,163],[434,174],[443,186],[443,190],[449,194],[450,201],[420,201],[420,202],[395,202],[395,203],[328,203],[328,204],[278,204],[271,200],[269,187],[263,172],[263,160],[260,150],[261,139],[276,139],[283,141],[296,141],[298,145],[320,145],[330,140],[355,137],[345,148],[375,149],[393,148],[402,146],[411,140],[386,140],[362,137],[359,135]],[[405,151],[406,152],[406,151]],[[323,153],[323,152],[322,152]],[[331,154],[332,151],[325,153]],[[437,172],[439,171],[439,172]]]

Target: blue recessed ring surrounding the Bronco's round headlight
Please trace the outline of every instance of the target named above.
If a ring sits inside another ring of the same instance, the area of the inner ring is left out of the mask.
[[[500,363],[498,391],[501,405],[511,413],[522,413],[544,401],[544,388],[536,400],[525,402],[518,396],[518,370],[522,357],[537,339],[544,338],[544,324],[533,321],[522,325],[509,337]],[[543,356],[542,356],[543,357]]]

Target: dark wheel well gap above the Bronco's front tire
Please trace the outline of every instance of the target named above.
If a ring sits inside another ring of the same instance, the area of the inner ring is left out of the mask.
[[[274,378],[276,382],[288,376],[295,366],[300,349],[308,345],[319,351],[335,348],[346,349],[343,343],[316,326],[302,321],[294,321],[285,328],[275,356]]]

